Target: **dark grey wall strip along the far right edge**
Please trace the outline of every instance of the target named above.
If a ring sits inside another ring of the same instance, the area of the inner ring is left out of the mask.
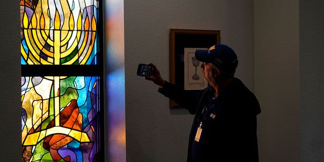
[[[301,161],[324,160],[324,1],[299,1]]]

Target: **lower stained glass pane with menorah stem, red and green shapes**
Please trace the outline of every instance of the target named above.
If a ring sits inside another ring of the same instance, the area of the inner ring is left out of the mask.
[[[97,161],[99,77],[22,77],[22,161]]]

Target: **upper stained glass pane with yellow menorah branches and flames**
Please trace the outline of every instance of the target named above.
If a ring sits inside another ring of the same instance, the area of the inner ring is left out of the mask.
[[[98,0],[21,0],[22,65],[97,64]]]

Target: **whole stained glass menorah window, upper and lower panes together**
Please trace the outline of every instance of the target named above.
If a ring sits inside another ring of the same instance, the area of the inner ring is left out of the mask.
[[[97,64],[97,0],[22,0],[20,8],[22,65]],[[98,160],[99,83],[99,76],[22,76],[22,161]]]

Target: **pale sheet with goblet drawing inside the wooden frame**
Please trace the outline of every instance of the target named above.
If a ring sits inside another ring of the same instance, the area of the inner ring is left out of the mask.
[[[194,57],[196,50],[207,50],[206,48],[184,48],[184,89],[202,90],[208,86],[204,79],[201,62]]]

